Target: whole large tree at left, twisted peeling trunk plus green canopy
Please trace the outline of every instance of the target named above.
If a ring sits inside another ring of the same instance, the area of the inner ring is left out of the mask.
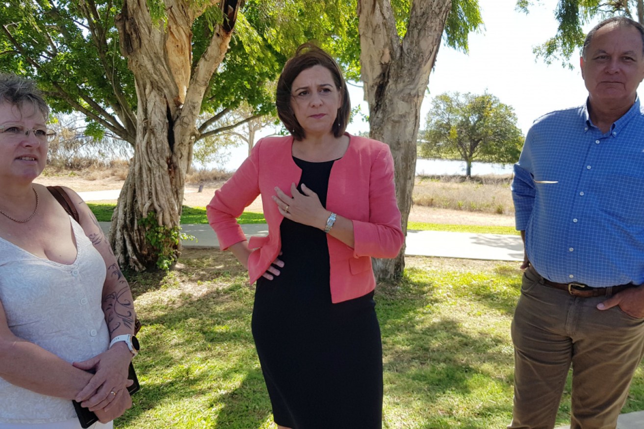
[[[196,125],[200,113],[216,118],[244,100],[254,114],[271,111],[264,84],[287,56],[310,39],[345,43],[346,16],[355,15],[344,1],[242,3],[0,3],[0,71],[38,80],[54,111],[86,116],[86,134],[109,132],[133,147],[110,234],[122,266],[178,258],[185,173],[194,142],[210,135],[209,120]]]

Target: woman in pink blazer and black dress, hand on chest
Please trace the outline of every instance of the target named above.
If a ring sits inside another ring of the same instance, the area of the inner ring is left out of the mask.
[[[312,44],[287,62],[276,98],[291,136],[258,141],[208,219],[257,282],[252,333],[278,427],[381,428],[371,258],[404,241],[392,155],[345,132],[345,80]],[[269,235],[246,241],[236,218],[258,195]]]

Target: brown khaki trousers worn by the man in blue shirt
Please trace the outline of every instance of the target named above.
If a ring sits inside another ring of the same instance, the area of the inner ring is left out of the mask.
[[[532,267],[523,276],[512,321],[515,398],[508,429],[553,429],[573,367],[571,429],[614,429],[644,352],[644,319],[606,297],[578,298],[544,286]]]

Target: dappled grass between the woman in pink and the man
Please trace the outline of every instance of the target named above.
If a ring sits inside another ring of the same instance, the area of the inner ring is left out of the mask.
[[[433,306],[440,306],[434,292],[431,282],[410,277],[380,289],[377,309],[383,332],[386,397],[397,398],[395,406],[403,409],[403,414],[414,414],[410,410],[415,410],[418,423],[410,426],[413,428],[481,429],[507,424],[509,419],[498,421],[511,415],[512,406],[507,372],[513,357],[499,352],[506,347],[507,337],[473,334],[449,314],[434,314]],[[468,299],[502,309],[510,305],[499,302],[491,292],[471,292]],[[478,397],[489,390],[495,393]],[[498,397],[505,400],[498,401]],[[475,410],[462,413],[461,408],[468,407]],[[497,421],[491,422],[490,415]]]

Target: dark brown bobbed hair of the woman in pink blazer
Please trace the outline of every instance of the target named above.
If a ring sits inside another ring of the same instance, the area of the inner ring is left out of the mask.
[[[346,125],[349,122],[349,116],[351,114],[349,91],[336,60],[331,55],[328,55],[327,52],[310,42],[302,44],[296,50],[295,55],[284,65],[281,75],[279,75],[278,89],[275,96],[279,119],[287,127],[295,140],[303,140],[306,138],[306,133],[301,125],[299,125],[293,113],[293,108],[290,105],[292,97],[291,87],[299,73],[313,66],[323,66],[331,72],[337,90],[342,96],[342,105],[337,112],[337,117],[332,127],[334,136],[340,137],[345,134]]]

